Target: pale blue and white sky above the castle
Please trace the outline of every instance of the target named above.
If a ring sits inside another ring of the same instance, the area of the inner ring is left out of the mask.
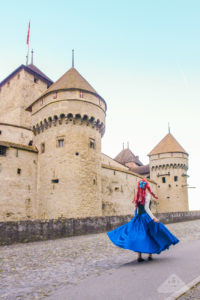
[[[168,133],[189,153],[189,208],[200,209],[200,1],[0,0],[0,81],[26,63],[53,81],[75,67],[107,102],[102,152],[147,164]]]

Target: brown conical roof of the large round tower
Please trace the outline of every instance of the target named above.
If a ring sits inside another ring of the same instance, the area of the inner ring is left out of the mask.
[[[93,89],[93,87],[81,76],[81,74],[75,69],[69,69],[62,77],[60,77],[54,84],[52,84],[42,96],[49,94],[50,92],[56,92],[60,90],[71,90],[78,89],[82,91],[87,91],[97,96],[98,93]],[[102,98],[101,96],[99,96]]]

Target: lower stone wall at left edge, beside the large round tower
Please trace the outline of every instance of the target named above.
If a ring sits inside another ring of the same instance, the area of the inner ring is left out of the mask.
[[[0,156],[0,221],[38,217],[36,174],[37,153],[10,147]]]

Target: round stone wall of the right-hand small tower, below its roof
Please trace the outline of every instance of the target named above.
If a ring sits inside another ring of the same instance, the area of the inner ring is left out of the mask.
[[[150,177],[157,182],[159,212],[188,211],[188,157],[184,153],[165,153],[150,157]],[[175,181],[177,176],[177,181]],[[165,177],[166,182],[162,182]]]

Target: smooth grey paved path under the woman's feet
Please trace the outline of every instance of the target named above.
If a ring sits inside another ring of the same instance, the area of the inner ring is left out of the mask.
[[[162,256],[140,264],[136,260],[90,276],[75,286],[53,293],[48,300],[164,300],[176,299],[178,291],[200,280],[200,240],[179,243]],[[188,258],[188,253],[192,257]],[[176,296],[175,296],[176,293]],[[179,294],[179,293],[178,293]],[[194,298],[193,298],[194,299]],[[195,298],[196,299],[196,298]]]

